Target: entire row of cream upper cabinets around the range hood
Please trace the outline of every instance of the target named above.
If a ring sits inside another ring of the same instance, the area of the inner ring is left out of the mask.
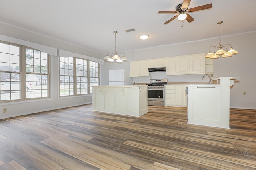
[[[149,76],[148,68],[166,67],[166,75],[214,74],[214,60],[205,54],[184,55],[130,62],[131,77]]]

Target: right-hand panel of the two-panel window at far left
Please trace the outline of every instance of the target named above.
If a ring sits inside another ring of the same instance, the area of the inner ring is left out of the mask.
[[[49,97],[48,55],[26,48],[26,98]]]

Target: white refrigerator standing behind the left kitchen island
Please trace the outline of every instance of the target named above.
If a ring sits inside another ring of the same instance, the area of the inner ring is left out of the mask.
[[[132,85],[132,78],[130,77],[130,71],[124,70],[124,69],[109,70],[108,85],[110,86]]]

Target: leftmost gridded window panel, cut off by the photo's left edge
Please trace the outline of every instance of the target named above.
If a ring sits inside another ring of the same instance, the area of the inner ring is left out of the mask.
[[[21,99],[20,48],[0,43],[0,101]]]

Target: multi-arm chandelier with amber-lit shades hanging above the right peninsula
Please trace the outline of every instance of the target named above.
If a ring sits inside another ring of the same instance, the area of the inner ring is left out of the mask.
[[[220,21],[217,24],[220,25],[221,23],[223,22]],[[220,37],[219,37],[219,41],[220,41]],[[230,46],[230,50],[228,50],[228,46]],[[213,53],[211,51],[212,48],[214,49]],[[225,48],[226,51],[224,51],[223,48]],[[223,45],[221,45],[221,43],[219,42],[219,45],[210,46],[209,53],[205,57],[210,59],[218,59],[220,57],[231,57],[232,55],[237,53],[238,51],[233,49],[232,44],[230,42],[224,43]]]

